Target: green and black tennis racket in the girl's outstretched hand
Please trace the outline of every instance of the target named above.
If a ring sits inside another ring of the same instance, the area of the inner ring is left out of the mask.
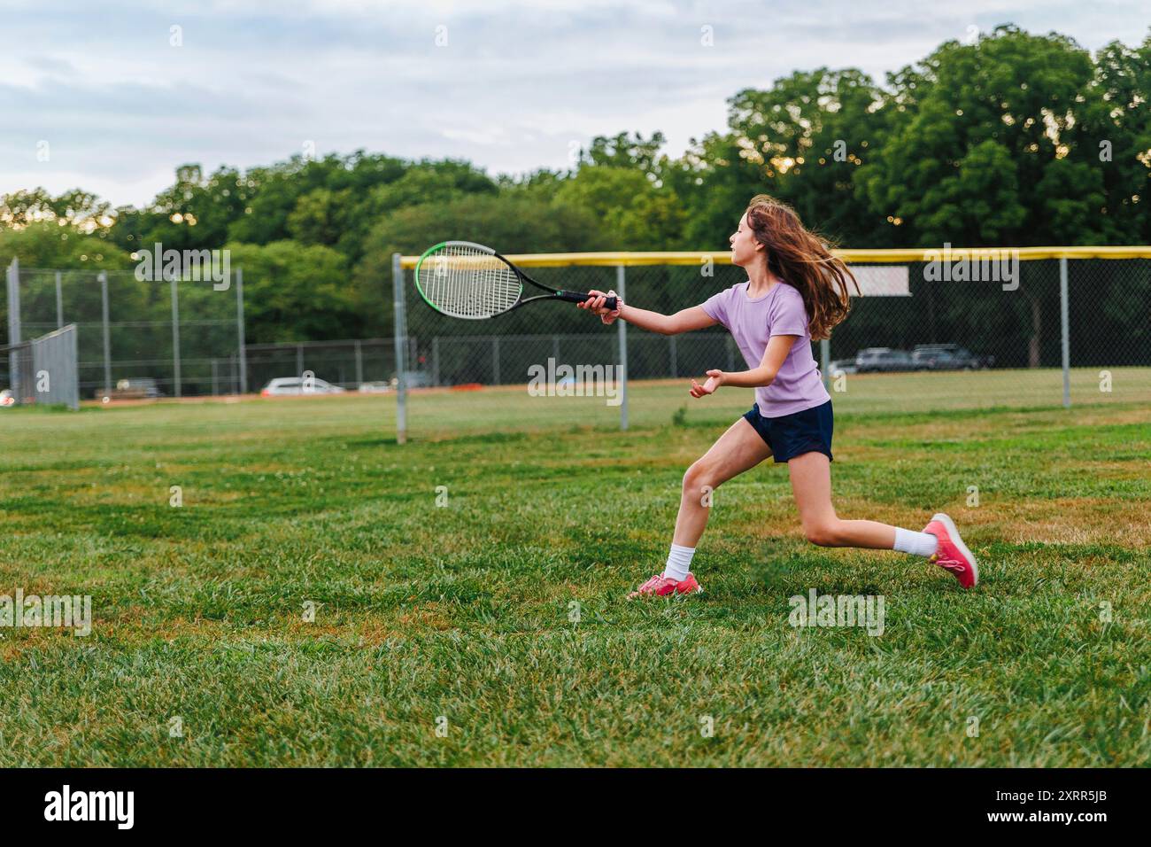
[[[525,282],[546,294],[525,297]],[[467,320],[494,318],[542,300],[582,303],[593,296],[536,282],[490,247],[471,241],[444,241],[426,250],[416,263],[416,289],[441,315]],[[615,309],[616,297],[604,305]]]

